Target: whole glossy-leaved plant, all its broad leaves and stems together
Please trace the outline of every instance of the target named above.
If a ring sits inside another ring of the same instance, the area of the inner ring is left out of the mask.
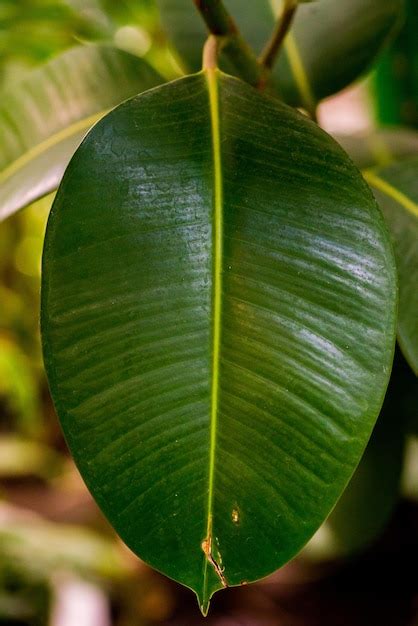
[[[59,185],[41,327],[67,443],[122,539],[206,614],[341,496],[340,553],[393,510],[417,394],[417,140],[342,138],[362,176],[316,120],[402,0],[158,4],[194,73],[168,82],[117,48],[104,3],[103,41],[2,98],[0,215]]]

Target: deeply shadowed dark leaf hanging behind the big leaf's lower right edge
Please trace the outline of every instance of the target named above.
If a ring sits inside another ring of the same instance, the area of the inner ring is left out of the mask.
[[[397,351],[382,412],[366,451],[335,509],[306,546],[308,558],[331,560],[370,548],[400,499],[406,433],[417,419],[418,381]]]

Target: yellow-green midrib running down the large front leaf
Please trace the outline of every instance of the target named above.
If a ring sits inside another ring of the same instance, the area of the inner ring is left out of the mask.
[[[209,92],[209,107],[212,129],[213,154],[213,221],[212,221],[212,250],[213,250],[213,281],[212,281],[212,383],[211,383],[211,412],[210,412],[210,455],[209,455],[209,486],[208,486],[208,518],[206,527],[206,560],[204,573],[204,602],[209,598],[207,589],[208,566],[213,566],[212,557],[212,508],[214,492],[216,430],[219,408],[219,360],[221,344],[221,313],[222,313],[222,162],[221,136],[219,123],[219,93],[217,70],[209,68],[205,72]]]

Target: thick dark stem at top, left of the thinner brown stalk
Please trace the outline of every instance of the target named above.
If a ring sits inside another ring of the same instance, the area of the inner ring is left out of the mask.
[[[193,0],[212,35],[222,44],[222,50],[240,78],[254,87],[266,83],[266,68],[257,60],[242,37],[222,0]]]

